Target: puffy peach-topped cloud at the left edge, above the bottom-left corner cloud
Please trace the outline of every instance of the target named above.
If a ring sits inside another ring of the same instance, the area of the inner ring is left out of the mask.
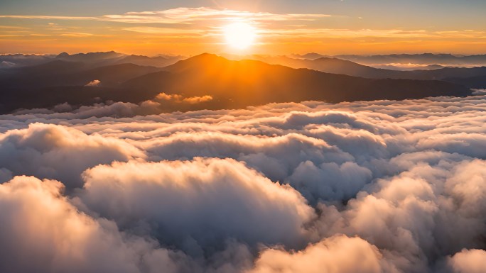
[[[32,123],[0,135],[0,166],[14,175],[59,179],[69,188],[82,186],[88,167],[144,157],[136,147],[115,138],[86,135],[65,126]]]

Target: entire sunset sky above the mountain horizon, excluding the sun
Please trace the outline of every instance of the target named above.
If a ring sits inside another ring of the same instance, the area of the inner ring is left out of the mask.
[[[2,0],[0,53],[486,53],[486,1]],[[251,25],[245,50],[225,27]]]

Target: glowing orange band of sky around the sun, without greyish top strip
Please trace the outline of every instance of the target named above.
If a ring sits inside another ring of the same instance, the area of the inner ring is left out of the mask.
[[[234,50],[224,28],[234,21],[257,30],[254,45]],[[446,26],[401,28],[366,18],[324,13],[269,13],[220,8],[174,8],[102,16],[0,15],[1,53],[109,51],[156,55],[200,52],[288,54],[320,52],[486,53],[486,30]],[[387,26],[387,27],[385,27]],[[397,25],[399,26],[399,25]]]

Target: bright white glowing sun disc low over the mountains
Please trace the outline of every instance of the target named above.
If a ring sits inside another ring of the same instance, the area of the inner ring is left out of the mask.
[[[225,27],[226,43],[238,50],[249,48],[256,37],[257,32],[249,23],[237,22]]]

